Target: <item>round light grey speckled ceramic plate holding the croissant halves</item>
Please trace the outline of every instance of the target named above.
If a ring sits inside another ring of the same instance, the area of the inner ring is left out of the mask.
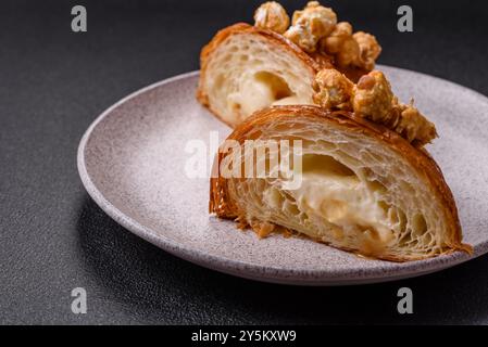
[[[440,139],[428,150],[454,193],[465,242],[474,245],[475,257],[486,253],[488,99],[442,79],[381,68],[401,99],[415,95],[420,108],[436,123]],[[88,193],[135,234],[211,269],[300,285],[389,281],[471,258],[455,253],[404,264],[368,260],[309,240],[281,235],[258,240],[253,232],[237,231],[233,222],[209,216],[209,181],[188,178],[185,165],[195,155],[191,145],[209,146],[211,131],[218,131],[222,139],[229,128],[197,103],[197,80],[198,73],[190,73],[125,98],[82,139],[78,169]],[[207,152],[209,156],[209,147]]]

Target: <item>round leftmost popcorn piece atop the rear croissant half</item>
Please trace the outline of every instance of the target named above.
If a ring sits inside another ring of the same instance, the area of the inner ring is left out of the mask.
[[[254,12],[254,26],[284,34],[290,25],[290,17],[276,1],[263,3]]]

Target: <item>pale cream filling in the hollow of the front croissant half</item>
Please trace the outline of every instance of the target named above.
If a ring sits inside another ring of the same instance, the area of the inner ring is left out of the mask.
[[[385,191],[361,180],[331,156],[305,154],[301,158],[301,183],[296,190],[286,190],[296,207],[277,196],[280,195],[277,190],[284,189],[283,181],[280,188],[271,187],[263,192],[264,203],[272,208],[281,205],[280,208],[295,211],[293,215],[304,213],[317,230],[329,230],[324,228],[325,220],[333,227],[334,239],[346,236],[356,240],[361,249],[381,252],[393,240],[393,222],[383,203]]]

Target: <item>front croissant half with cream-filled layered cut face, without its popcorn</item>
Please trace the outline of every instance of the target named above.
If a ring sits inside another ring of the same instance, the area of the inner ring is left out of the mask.
[[[455,203],[437,164],[424,149],[380,125],[317,106],[275,106],[256,112],[227,140],[240,147],[247,140],[263,145],[301,140],[302,180],[290,189],[289,178],[281,176],[224,177],[232,151],[220,151],[210,211],[221,218],[266,231],[279,226],[392,261],[471,252],[461,241]],[[246,154],[238,159],[235,167],[247,163]]]

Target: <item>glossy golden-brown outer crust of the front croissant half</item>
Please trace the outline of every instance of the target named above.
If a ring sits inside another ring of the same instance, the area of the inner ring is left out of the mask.
[[[311,123],[333,123],[335,125],[348,128],[349,131],[360,132],[364,136],[373,137],[406,158],[411,166],[421,174],[420,176],[427,180],[426,183],[434,189],[437,197],[442,202],[442,206],[445,207],[445,216],[448,220],[448,226],[450,227],[451,237],[449,239],[452,240],[452,244],[449,244],[449,246],[452,252],[473,252],[472,246],[462,243],[461,223],[459,220],[454,197],[446,183],[443,175],[437,163],[427,151],[411,145],[397,132],[381,125],[371,123],[362,117],[355,116],[350,112],[329,112],[317,106],[305,105],[274,106],[254,113],[250,118],[239,125],[228,137],[228,139],[237,140],[242,143],[246,139],[248,139],[248,132],[250,132],[250,130],[254,127],[274,121],[274,119],[279,117],[287,117],[296,114],[299,114],[300,117],[310,118]],[[218,153],[214,165],[220,165],[225,155],[225,153]],[[229,196],[227,180],[220,176],[212,178],[210,181],[209,207],[210,213],[215,213],[221,218],[236,218],[242,214]],[[386,256],[381,257],[381,259],[392,261],[412,260],[395,256]]]

